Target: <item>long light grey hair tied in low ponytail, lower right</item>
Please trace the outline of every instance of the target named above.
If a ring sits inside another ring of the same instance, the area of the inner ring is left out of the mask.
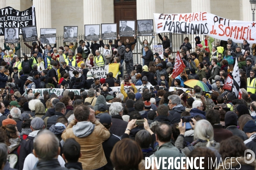
[[[204,128],[202,128],[204,127]],[[194,140],[208,141],[206,147],[210,147],[213,143],[213,128],[210,122],[207,120],[199,120],[195,124]]]

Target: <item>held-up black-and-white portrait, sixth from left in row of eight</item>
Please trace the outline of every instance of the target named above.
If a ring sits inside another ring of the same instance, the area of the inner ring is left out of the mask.
[[[101,24],[102,40],[113,40],[116,39],[116,23],[112,24]]]

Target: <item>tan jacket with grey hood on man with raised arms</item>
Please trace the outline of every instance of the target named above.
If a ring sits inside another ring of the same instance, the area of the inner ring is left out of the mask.
[[[102,143],[110,136],[110,132],[98,121],[76,122],[72,120],[63,131],[61,138],[66,141],[74,138],[81,145],[82,156],[79,162],[83,169],[98,169],[107,164]]]

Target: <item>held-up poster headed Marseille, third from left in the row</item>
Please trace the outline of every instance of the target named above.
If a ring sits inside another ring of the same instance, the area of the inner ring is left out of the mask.
[[[43,44],[55,44],[56,29],[55,28],[41,28],[40,40]]]

